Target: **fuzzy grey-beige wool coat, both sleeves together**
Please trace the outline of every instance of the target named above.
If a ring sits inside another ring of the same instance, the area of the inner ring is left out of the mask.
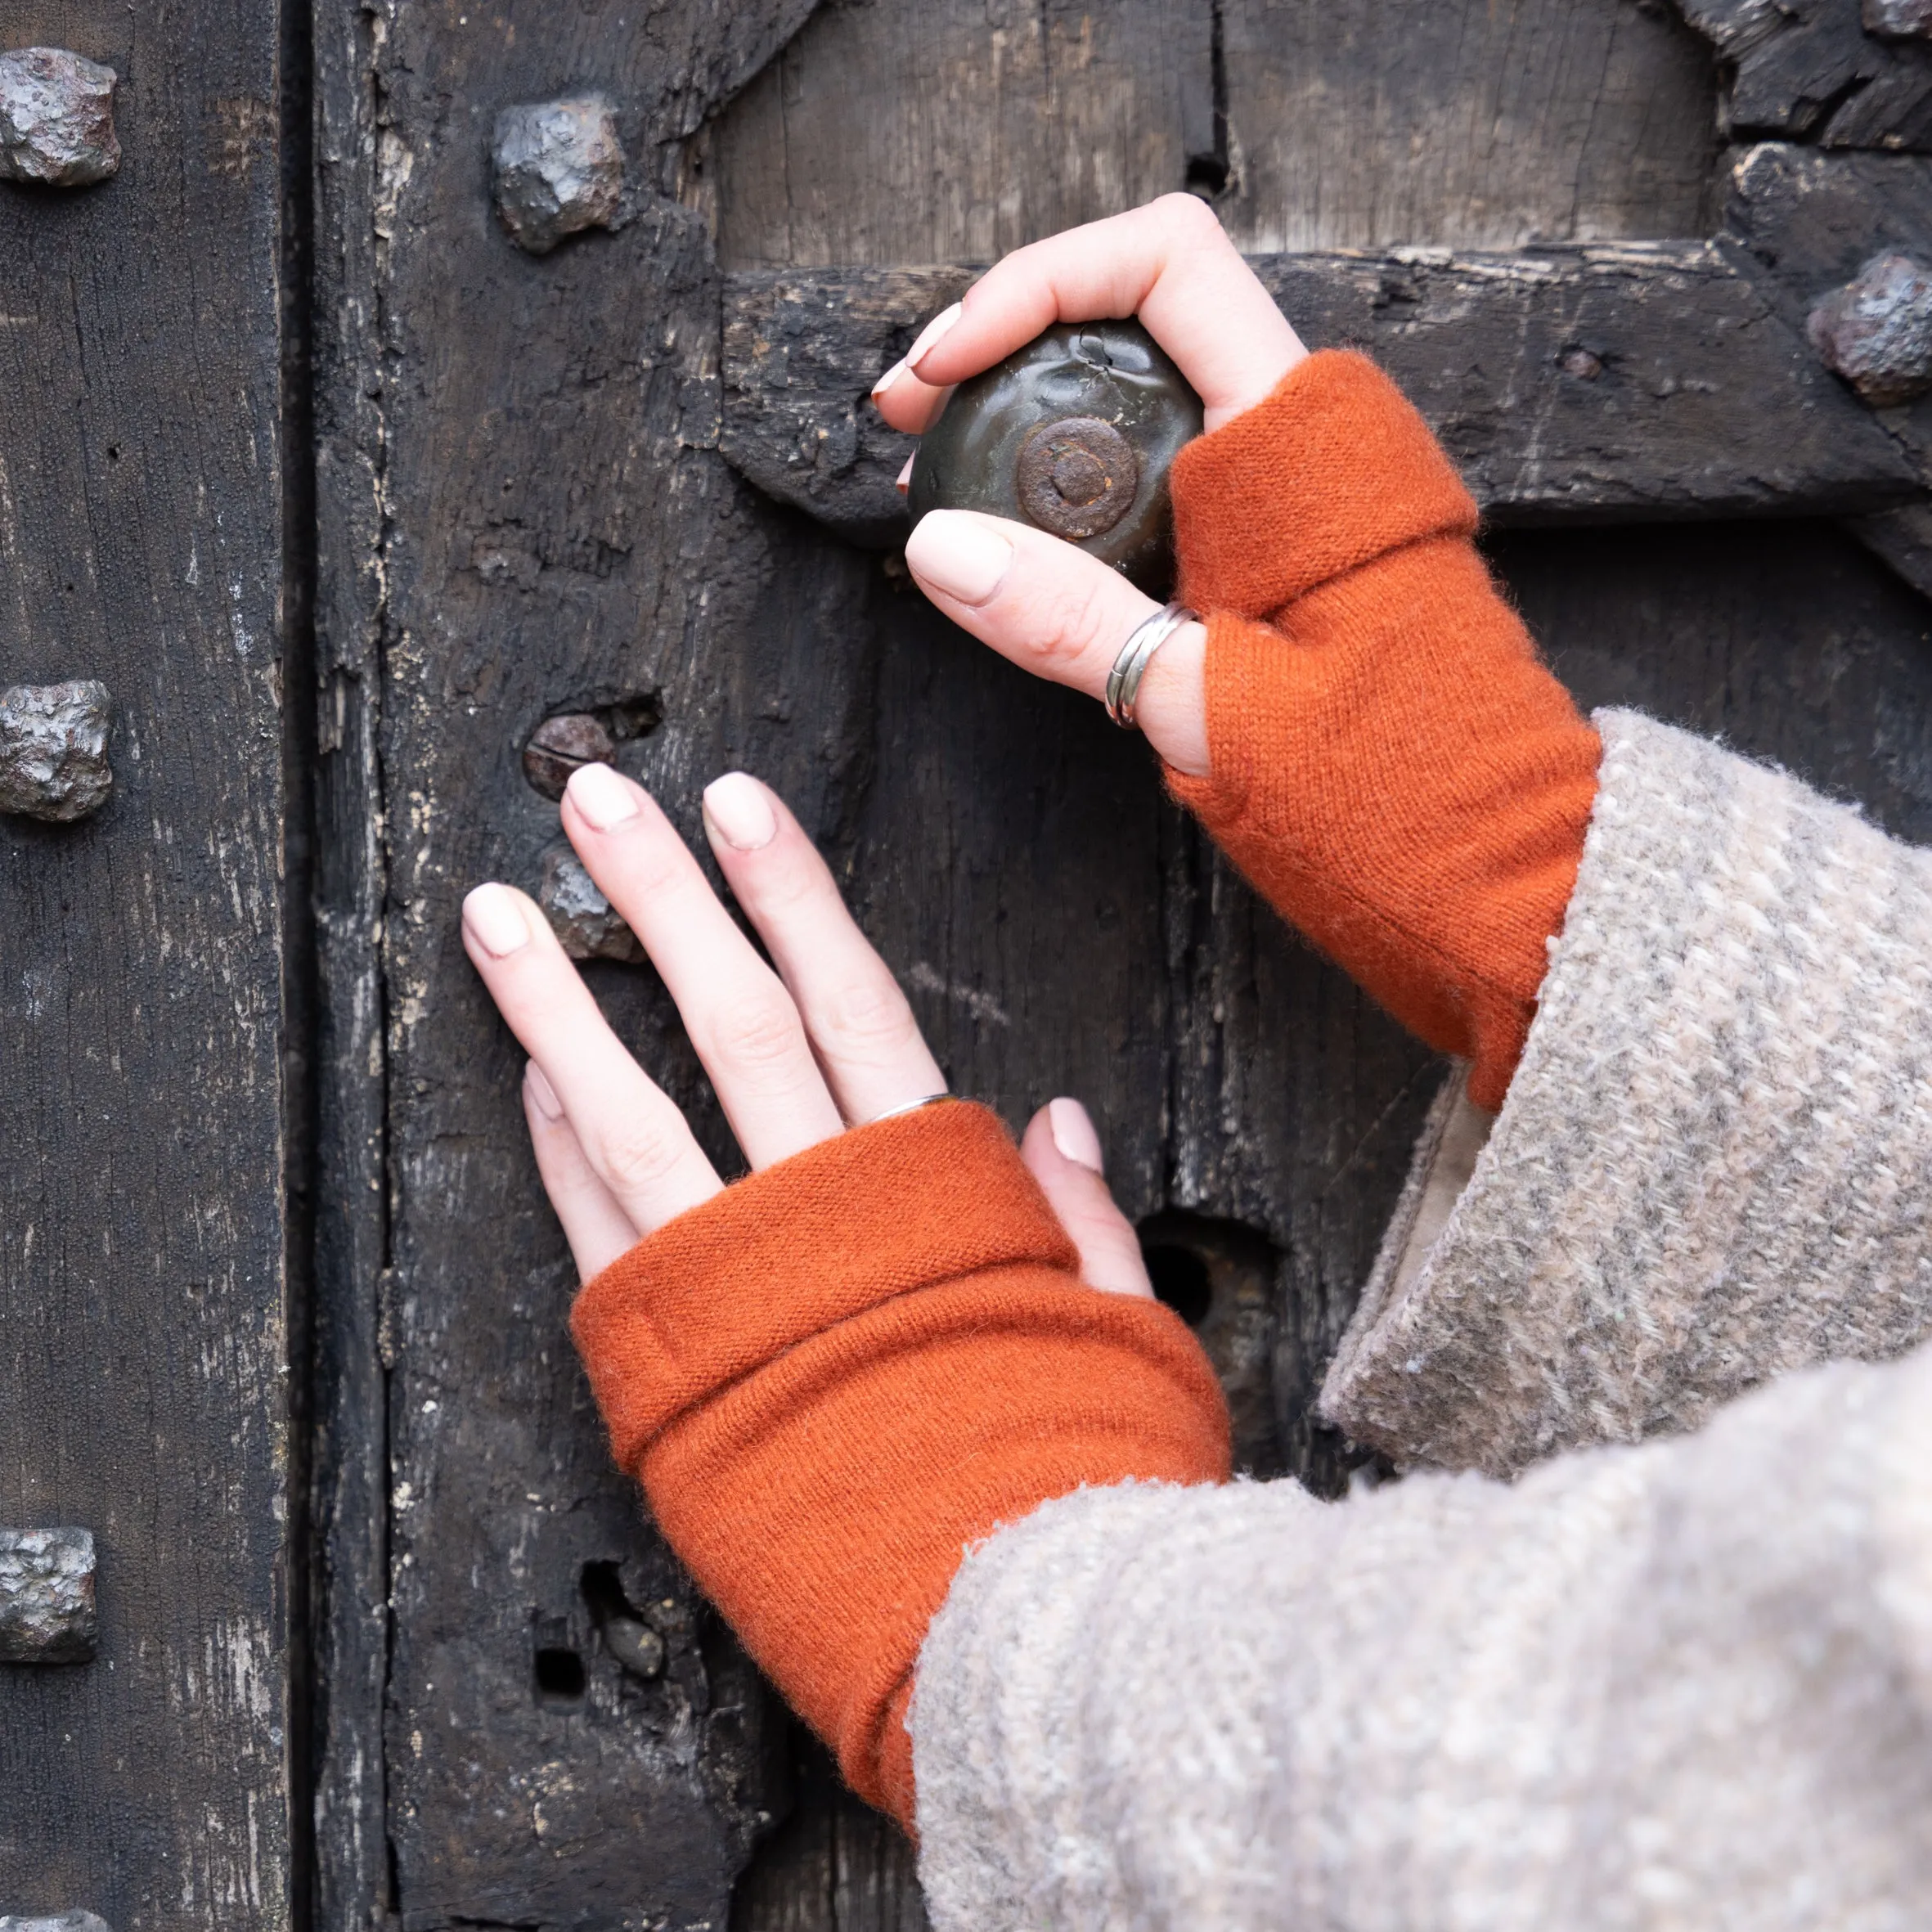
[[[1932,854],[1596,723],[1522,1065],[1323,1397],[1416,1472],[980,1546],[910,1714],[937,1932],[1932,1924],[1932,1349],[1801,1366],[1932,1335]]]

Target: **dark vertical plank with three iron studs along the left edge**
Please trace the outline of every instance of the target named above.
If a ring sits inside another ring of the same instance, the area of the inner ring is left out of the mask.
[[[0,1520],[91,1663],[0,1665],[0,1911],[288,1922],[278,8],[23,0],[120,170],[0,185],[0,684],[112,692],[112,798],[0,819]]]

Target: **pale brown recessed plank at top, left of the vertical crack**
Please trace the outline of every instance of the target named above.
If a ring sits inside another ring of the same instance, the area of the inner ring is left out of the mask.
[[[1213,151],[1209,0],[829,6],[688,158],[726,267],[993,259]]]

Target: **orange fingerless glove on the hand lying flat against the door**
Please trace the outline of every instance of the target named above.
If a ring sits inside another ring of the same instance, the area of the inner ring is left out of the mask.
[[[572,1331],[670,1548],[908,1828],[914,1663],[966,1548],[1086,1484],[1229,1472],[1200,1343],[1082,1285],[968,1103],[726,1188],[597,1275]]]

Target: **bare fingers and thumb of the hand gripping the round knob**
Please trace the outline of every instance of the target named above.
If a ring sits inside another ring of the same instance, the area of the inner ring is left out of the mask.
[[[1194,195],[1159,201],[1016,249],[964,301],[933,317],[873,390],[879,413],[923,435],[952,384],[1053,323],[1138,315],[1206,406],[1206,427],[1265,400],[1306,357],[1273,298]],[[906,566],[954,624],[1016,665],[1099,697],[1134,626],[1155,605],[1119,572],[1043,531],[972,510],[933,510]],[[1200,624],[1155,653],[1138,723],[1177,771],[1208,771]]]

